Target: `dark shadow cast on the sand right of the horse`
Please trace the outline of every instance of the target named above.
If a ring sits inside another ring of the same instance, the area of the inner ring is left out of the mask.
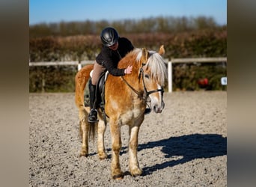
[[[159,141],[150,141],[147,144],[139,144],[138,151],[153,147],[162,147],[162,153],[165,153],[165,158],[181,156],[182,159],[142,168],[143,175],[152,174],[154,171],[183,164],[193,159],[226,155],[227,138],[217,134],[183,135]]]

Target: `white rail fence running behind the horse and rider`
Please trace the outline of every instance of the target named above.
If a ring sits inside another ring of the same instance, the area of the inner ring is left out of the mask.
[[[168,92],[172,92],[172,64],[175,63],[213,63],[213,62],[227,62],[226,57],[219,58],[173,58],[168,61]],[[94,61],[59,61],[59,62],[29,62],[29,66],[77,66],[77,70],[82,68],[82,65],[94,64]]]

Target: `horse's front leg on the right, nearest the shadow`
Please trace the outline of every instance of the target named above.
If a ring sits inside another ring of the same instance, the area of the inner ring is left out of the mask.
[[[141,169],[138,166],[138,126],[129,126],[129,172],[132,177],[136,177],[142,174]]]

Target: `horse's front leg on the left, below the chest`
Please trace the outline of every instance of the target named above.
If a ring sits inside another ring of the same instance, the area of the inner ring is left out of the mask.
[[[119,162],[119,153],[121,150],[121,126],[118,125],[117,121],[109,121],[110,131],[112,135],[112,178],[115,180],[121,180],[124,177],[123,172],[121,171],[121,166]]]

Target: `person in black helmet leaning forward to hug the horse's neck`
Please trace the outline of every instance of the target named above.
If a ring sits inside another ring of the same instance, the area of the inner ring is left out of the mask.
[[[100,39],[103,48],[99,55],[97,55],[96,63],[94,63],[94,72],[89,82],[90,94],[90,108],[88,115],[88,122],[97,122],[97,105],[96,105],[96,85],[100,75],[106,70],[112,76],[125,76],[125,74],[132,73],[132,65],[126,69],[118,69],[118,62],[124,58],[128,52],[132,51],[134,47],[126,37],[119,37],[118,31],[115,28],[104,28],[100,34]]]

